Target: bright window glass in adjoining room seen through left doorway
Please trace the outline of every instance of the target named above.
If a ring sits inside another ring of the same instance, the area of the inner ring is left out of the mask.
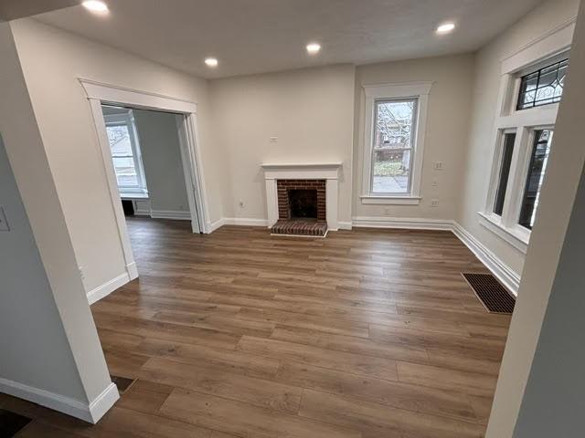
[[[112,150],[113,167],[119,187],[138,187],[138,172],[128,125],[108,125],[108,140]]]

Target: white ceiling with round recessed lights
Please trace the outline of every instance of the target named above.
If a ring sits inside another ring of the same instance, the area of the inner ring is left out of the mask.
[[[106,0],[37,16],[52,26],[203,78],[473,51],[541,0]],[[457,23],[451,35],[435,27]],[[305,45],[323,49],[309,57]],[[203,59],[218,57],[219,67]],[[112,66],[115,68],[115,66]]]

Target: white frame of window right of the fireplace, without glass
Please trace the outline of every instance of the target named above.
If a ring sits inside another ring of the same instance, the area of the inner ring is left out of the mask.
[[[365,85],[364,154],[362,162],[362,203],[419,204],[422,162],[427,125],[427,110],[432,82]],[[410,191],[408,193],[372,193],[374,154],[374,118],[379,100],[417,99],[415,131],[410,152]]]

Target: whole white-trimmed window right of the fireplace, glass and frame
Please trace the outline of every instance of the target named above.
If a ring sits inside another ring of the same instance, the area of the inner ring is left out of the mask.
[[[430,83],[365,86],[362,203],[420,203]]]

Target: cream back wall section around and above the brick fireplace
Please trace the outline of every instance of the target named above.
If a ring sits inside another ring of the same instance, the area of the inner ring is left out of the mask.
[[[343,162],[339,220],[351,220],[354,67],[307,68],[210,84],[214,139],[227,151],[221,171],[230,184],[227,217],[267,218],[262,162]]]

